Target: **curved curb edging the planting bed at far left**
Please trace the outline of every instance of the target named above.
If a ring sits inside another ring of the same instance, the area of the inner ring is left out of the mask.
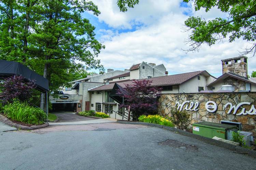
[[[45,127],[49,126],[49,123],[44,123],[44,124],[41,124],[41,125],[24,126],[24,125],[12,122],[10,119],[6,118],[3,115],[0,115],[0,121],[5,123],[5,124],[8,124],[9,126],[14,126],[18,130],[19,129],[34,130],[34,129],[45,128]]]

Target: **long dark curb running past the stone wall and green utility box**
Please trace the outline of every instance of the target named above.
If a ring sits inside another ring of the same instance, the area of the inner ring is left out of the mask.
[[[178,133],[178,134],[183,135],[183,136],[188,136],[188,137],[191,137],[191,138],[194,138],[194,139],[198,139],[198,140],[203,141],[204,143],[207,143],[207,144],[210,144],[210,145],[214,145],[214,146],[217,146],[217,147],[229,149],[231,151],[234,151],[234,152],[240,153],[240,154],[248,154],[248,155],[256,158],[256,151],[254,151],[254,150],[250,150],[250,149],[243,148],[243,147],[240,147],[240,146],[234,146],[234,145],[231,145],[229,143],[225,143],[225,142],[218,141],[218,140],[215,140],[215,139],[211,139],[211,138],[207,138],[207,137],[204,137],[204,136],[196,135],[196,134],[193,134],[193,133],[190,133],[190,132],[187,132],[187,131],[183,131],[183,130],[180,130],[180,129],[171,128],[169,126],[154,124],[154,123],[131,122],[131,121],[122,121],[122,120],[117,120],[116,122],[117,123],[123,123],[123,124],[141,124],[141,125],[147,125],[147,126],[153,126],[153,127],[156,127],[156,128],[166,129],[166,130]]]

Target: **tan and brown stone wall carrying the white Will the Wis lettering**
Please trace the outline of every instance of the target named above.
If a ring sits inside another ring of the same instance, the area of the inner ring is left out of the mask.
[[[256,106],[256,92],[162,94],[158,99],[158,112],[162,116],[172,116],[170,111],[175,107],[177,108],[175,104],[177,102],[182,104],[186,101],[187,103],[184,104],[182,109],[185,110],[187,108],[186,112],[190,115],[190,128],[196,122],[208,121],[220,123],[221,120],[227,120],[241,122],[243,124],[243,131],[253,132],[254,136],[256,136],[256,110],[253,109]],[[205,104],[208,101],[216,103],[217,108],[215,112],[211,113],[207,111]],[[194,107],[196,105],[195,103],[198,102],[196,111],[193,110],[193,106],[191,106],[190,110],[188,109],[192,102],[194,103]],[[237,106],[241,102],[249,102],[250,104],[243,104],[235,114],[233,114],[234,109],[228,114],[230,105],[225,107],[225,104],[228,102],[233,106]],[[250,111],[250,109],[252,110]],[[247,115],[238,115],[241,112]]]

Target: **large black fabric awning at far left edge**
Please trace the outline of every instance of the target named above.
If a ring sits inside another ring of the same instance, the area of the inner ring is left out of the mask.
[[[26,81],[33,80],[40,91],[49,91],[48,80],[28,67],[13,61],[0,60],[0,79],[10,75],[22,75]]]

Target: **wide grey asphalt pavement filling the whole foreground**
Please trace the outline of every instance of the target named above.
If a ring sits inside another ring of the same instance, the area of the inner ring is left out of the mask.
[[[256,167],[256,159],[247,155],[168,130],[116,122],[2,132],[0,143],[0,169],[233,170]]]

